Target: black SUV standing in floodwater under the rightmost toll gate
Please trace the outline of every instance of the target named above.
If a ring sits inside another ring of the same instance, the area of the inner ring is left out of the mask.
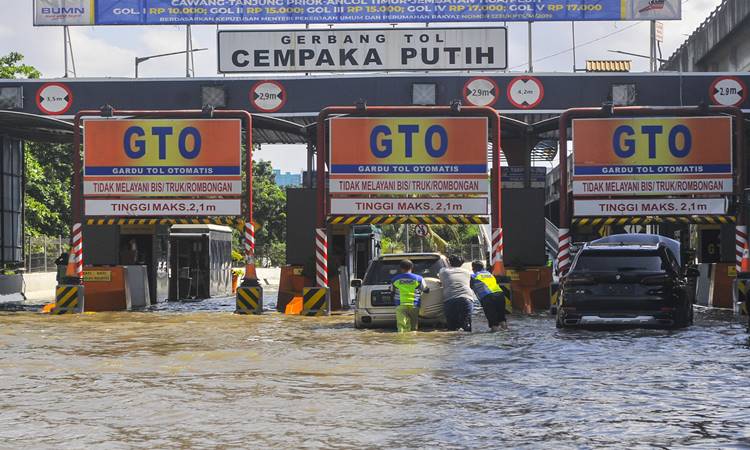
[[[675,251],[671,244],[676,241],[660,236],[634,240],[622,235],[619,241],[586,244],[578,252],[562,280],[558,328],[683,328],[693,323],[686,277],[698,273],[682,270],[679,244]]]

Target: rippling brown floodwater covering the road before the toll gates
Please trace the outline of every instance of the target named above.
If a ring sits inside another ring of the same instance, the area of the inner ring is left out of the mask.
[[[728,317],[398,335],[231,305],[1,314],[0,447],[750,447],[750,347]]]

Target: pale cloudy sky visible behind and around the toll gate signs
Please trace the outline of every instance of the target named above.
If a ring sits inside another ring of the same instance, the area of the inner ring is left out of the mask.
[[[721,0],[683,0],[683,19],[664,23],[663,57],[668,58],[720,3]],[[62,76],[65,72],[62,28],[34,27],[32,0],[0,0],[0,5],[0,11],[4,13],[0,16],[0,54],[20,52],[25,56],[25,62],[39,69],[45,78]],[[346,27],[351,28],[352,25]],[[263,27],[221,26],[221,29],[232,28]],[[100,26],[70,29],[78,77],[132,77],[136,56],[185,49],[184,26]],[[216,26],[194,25],[192,35],[194,48],[208,48],[207,51],[195,53],[195,76],[217,76]],[[576,66],[583,67],[587,59],[631,59],[609,50],[648,55],[648,36],[648,22],[579,22],[576,24]],[[508,24],[508,39],[510,71],[526,71],[527,25]],[[535,23],[532,48],[534,71],[572,71],[572,46],[570,22]],[[633,71],[648,70],[647,59],[632,59]],[[185,56],[141,63],[139,76],[185,76]],[[301,146],[265,146],[258,157],[270,160],[282,171],[299,172],[305,166],[304,154]]]

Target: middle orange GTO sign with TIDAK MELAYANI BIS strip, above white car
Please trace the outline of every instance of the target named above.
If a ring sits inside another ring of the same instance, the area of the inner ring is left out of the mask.
[[[332,194],[487,195],[487,119],[330,121]]]

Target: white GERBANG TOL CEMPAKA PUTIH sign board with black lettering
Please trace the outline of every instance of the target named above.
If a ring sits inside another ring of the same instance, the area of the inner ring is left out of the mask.
[[[507,68],[505,28],[223,30],[219,72]]]

